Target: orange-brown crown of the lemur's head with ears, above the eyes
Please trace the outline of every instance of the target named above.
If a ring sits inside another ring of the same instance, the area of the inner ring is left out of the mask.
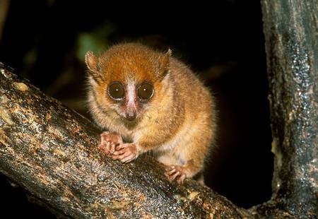
[[[126,81],[129,76],[136,81],[157,81],[167,70],[170,53],[170,50],[162,54],[143,45],[127,43],[115,45],[99,57],[88,52],[86,63],[101,83]]]

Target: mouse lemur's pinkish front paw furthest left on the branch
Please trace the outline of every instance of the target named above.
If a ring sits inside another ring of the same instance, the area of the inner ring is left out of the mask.
[[[122,144],[122,136],[116,132],[104,131],[100,134],[100,149],[106,155],[112,155],[116,147]]]

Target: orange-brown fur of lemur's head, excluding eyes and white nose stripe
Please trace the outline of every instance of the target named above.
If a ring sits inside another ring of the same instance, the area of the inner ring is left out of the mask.
[[[168,70],[170,50],[166,54],[155,52],[143,45],[125,44],[111,47],[99,57],[92,52],[86,55],[86,64],[90,71],[90,85],[93,87],[95,101],[105,111],[122,116],[127,111],[125,104],[119,105],[107,95],[107,87],[112,82],[121,82],[124,86],[134,83],[150,83],[154,87],[154,94],[148,102],[136,101],[137,118],[141,116],[151,102],[158,99],[163,88],[163,80]],[[107,108],[107,109],[106,109]],[[125,121],[126,122],[126,121]],[[129,123],[131,124],[131,123]]]

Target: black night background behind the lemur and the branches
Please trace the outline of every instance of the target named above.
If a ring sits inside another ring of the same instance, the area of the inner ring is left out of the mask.
[[[86,117],[87,50],[100,52],[122,41],[171,48],[216,96],[218,148],[206,168],[206,184],[244,208],[271,198],[273,155],[259,1],[176,6],[11,1],[0,37],[1,62]],[[0,213],[54,218],[29,203],[23,189],[11,187],[6,177],[0,177],[0,185]]]

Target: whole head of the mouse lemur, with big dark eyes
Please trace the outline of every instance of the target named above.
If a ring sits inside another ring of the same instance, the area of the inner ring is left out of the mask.
[[[136,122],[151,105],[159,104],[167,88],[170,49],[164,54],[146,46],[114,45],[95,56],[86,53],[90,89],[100,112]]]

